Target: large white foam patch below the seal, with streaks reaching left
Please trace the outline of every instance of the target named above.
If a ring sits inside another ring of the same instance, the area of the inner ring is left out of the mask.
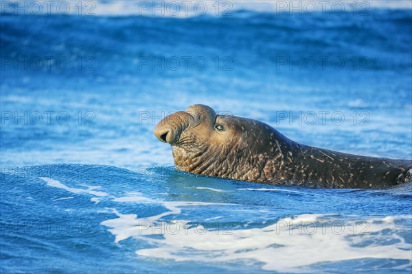
[[[116,209],[110,209],[117,218],[101,224],[109,227],[108,230],[115,236],[115,242],[139,238],[155,246],[138,249],[138,256],[176,262],[257,261],[264,263],[262,269],[286,272],[310,271],[308,267],[319,262],[360,258],[409,260],[409,264],[411,263],[411,244],[398,235],[399,229],[409,228],[395,222],[410,220],[412,216],[363,219],[354,215],[349,216],[351,221],[348,221],[348,216],[343,219],[339,214],[301,214],[280,219],[265,227],[245,228],[245,225],[238,229],[219,223],[220,216],[196,225],[190,225],[185,219],[161,221],[164,216],[181,214],[183,206],[227,204],[157,201],[144,197],[122,197],[115,200],[161,203],[169,210],[155,216],[138,218],[137,214],[121,214]],[[233,206],[228,210],[233,210]],[[214,225],[207,227],[215,219]],[[388,234],[388,230],[391,233]],[[146,237],[150,235],[163,237]],[[388,242],[391,244],[388,245]]]

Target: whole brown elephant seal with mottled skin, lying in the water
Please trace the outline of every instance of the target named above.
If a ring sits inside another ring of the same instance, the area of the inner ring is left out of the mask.
[[[192,105],[155,127],[177,170],[273,185],[376,188],[412,181],[412,160],[301,145],[260,121]]]

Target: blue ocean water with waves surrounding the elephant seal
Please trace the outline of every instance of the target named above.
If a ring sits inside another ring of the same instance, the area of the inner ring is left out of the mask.
[[[411,9],[141,16],[120,2],[2,6],[1,273],[411,272],[411,184],[195,176],[152,133],[203,103],[307,145],[411,159]]]

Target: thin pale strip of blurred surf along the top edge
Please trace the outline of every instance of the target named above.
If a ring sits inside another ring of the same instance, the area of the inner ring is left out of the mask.
[[[16,4],[14,4],[16,2]],[[356,5],[354,5],[356,3]],[[73,14],[85,16],[232,16],[238,10],[275,14],[324,14],[352,12],[367,14],[371,8],[411,9],[409,0],[271,0],[271,1],[5,1],[1,12],[12,14]]]

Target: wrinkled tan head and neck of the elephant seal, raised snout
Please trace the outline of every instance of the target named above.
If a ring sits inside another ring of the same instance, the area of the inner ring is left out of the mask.
[[[265,123],[218,115],[207,105],[192,105],[155,127],[155,136],[172,145],[176,169],[247,181],[259,181],[266,162],[279,153],[278,135]]]

